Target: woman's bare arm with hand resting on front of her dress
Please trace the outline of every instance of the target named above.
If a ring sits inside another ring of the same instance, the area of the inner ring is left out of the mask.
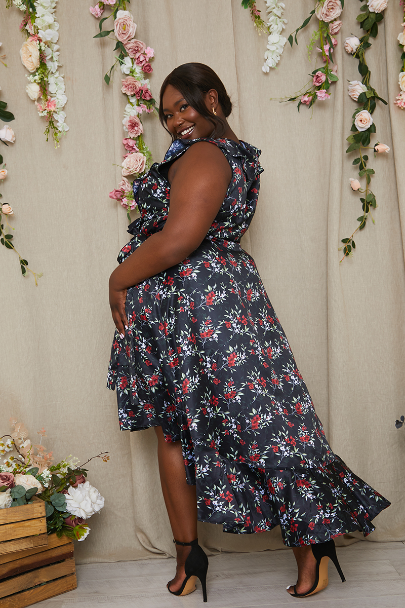
[[[165,226],[129,255],[110,277],[111,313],[120,334],[128,326],[127,288],[179,264],[197,249],[219,212],[231,176],[228,161],[212,143],[194,143],[176,161]]]

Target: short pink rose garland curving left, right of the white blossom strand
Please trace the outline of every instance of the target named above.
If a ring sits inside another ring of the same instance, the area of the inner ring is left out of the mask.
[[[313,15],[318,18],[319,26],[313,32],[311,36],[310,43],[308,44],[308,59],[310,59],[310,55],[315,46],[316,41],[319,40],[320,46],[316,47],[316,50],[321,54],[322,61],[324,61],[325,66],[321,68],[315,68],[313,72],[311,72],[312,79],[305,85],[297,94],[292,95],[291,97],[285,98],[281,101],[293,102],[298,101],[298,111],[301,105],[306,105],[308,108],[311,108],[315,102],[325,101],[330,98],[330,93],[328,93],[330,89],[330,85],[333,82],[337,82],[339,80],[336,72],[338,71],[337,64],[331,66],[332,63],[332,53],[336,44],[338,44],[338,40],[336,40],[336,35],[338,35],[342,22],[339,19],[342,10],[344,9],[344,0],[319,0],[315,4],[315,9],[311,10],[310,15],[305,19],[305,21],[299,26],[295,32],[288,36],[288,42],[293,47],[293,40],[295,43],[297,42],[297,34],[299,30],[302,30],[305,26],[308,25]],[[307,87],[307,88],[305,88]],[[305,90],[304,90],[305,89]]]

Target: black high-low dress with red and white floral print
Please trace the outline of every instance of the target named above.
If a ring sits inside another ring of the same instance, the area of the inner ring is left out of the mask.
[[[141,216],[118,261],[168,216],[172,161],[200,140],[175,140],[141,181]],[[262,168],[249,143],[205,139],[233,176],[202,244],[182,263],[128,289],[129,328],[115,333],[108,388],[121,429],[162,426],[181,441],[199,520],[253,533],[281,525],[289,546],[361,530],[389,502],[327,443],[287,338],[240,238]]]

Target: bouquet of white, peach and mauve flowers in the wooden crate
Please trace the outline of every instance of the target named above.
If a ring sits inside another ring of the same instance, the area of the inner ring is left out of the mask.
[[[90,532],[87,519],[104,506],[100,492],[86,481],[84,468],[93,458],[109,460],[107,452],[90,458],[83,465],[72,456],[53,465],[52,452],[42,440],[46,430],[38,431],[38,444],[28,437],[24,424],[10,418],[12,433],[0,438],[0,509],[26,505],[33,496],[45,503],[47,533],[84,541]]]

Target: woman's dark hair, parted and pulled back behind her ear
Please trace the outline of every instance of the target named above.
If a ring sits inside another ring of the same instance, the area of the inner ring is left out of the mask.
[[[201,116],[213,123],[214,137],[220,137],[225,133],[225,120],[219,116],[215,116],[213,112],[209,112],[205,105],[205,95],[211,89],[215,89],[218,94],[218,102],[222,108],[223,114],[228,117],[232,111],[232,103],[228,93],[223,86],[222,81],[216,75],[211,67],[203,63],[183,63],[182,66],[175,69],[166,76],[163,85],[160,88],[159,102],[159,119],[162,125],[166,128],[165,114],[163,114],[163,94],[168,85],[173,86],[185,98],[186,102],[194,108]],[[172,135],[172,134],[171,134]],[[172,135],[172,139],[175,137]]]

